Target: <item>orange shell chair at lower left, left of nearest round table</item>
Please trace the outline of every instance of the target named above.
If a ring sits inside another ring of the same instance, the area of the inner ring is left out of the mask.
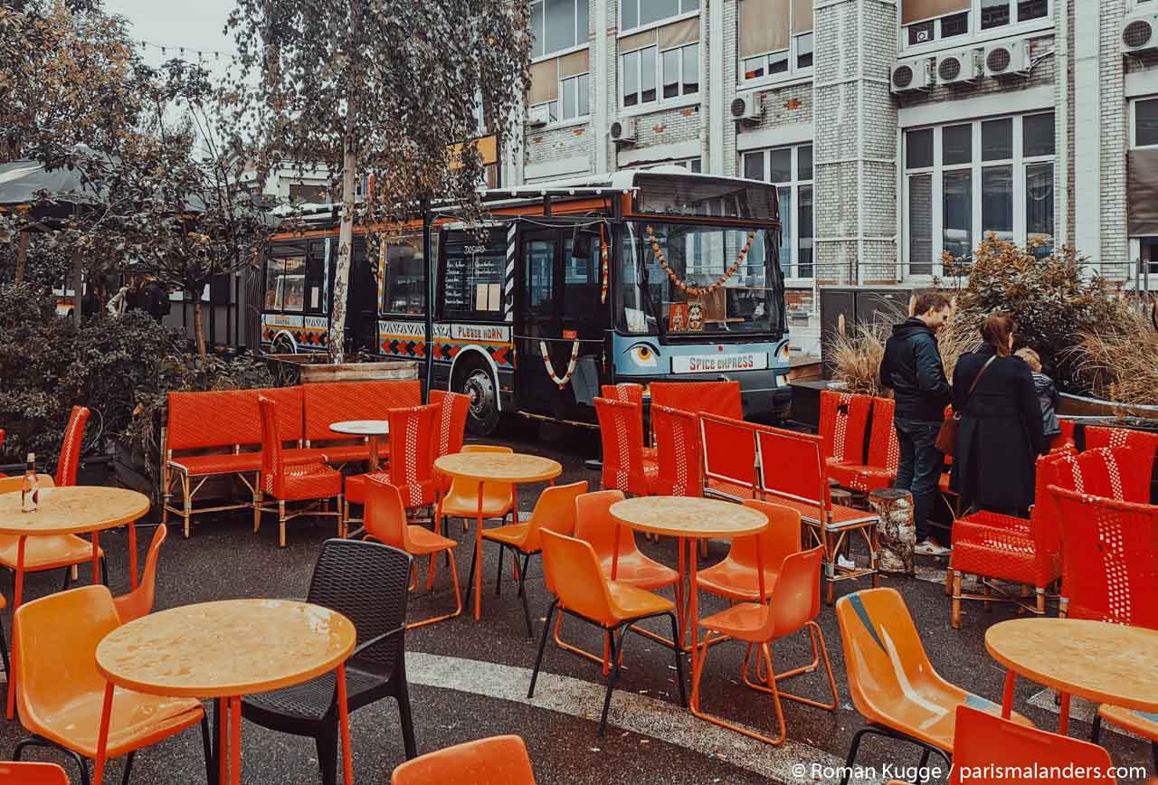
[[[96,646],[120,624],[104,586],[51,594],[16,610],[14,646],[20,721],[31,736],[16,744],[67,753],[88,783],[86,758],[96,757],[105,681],[96,670]],[[117,689],[109,726],[110,758],[129,755],[129,782],[135,750],[200,722],[206,773],[213,782],[208,724],[199,700],[166,698]]]

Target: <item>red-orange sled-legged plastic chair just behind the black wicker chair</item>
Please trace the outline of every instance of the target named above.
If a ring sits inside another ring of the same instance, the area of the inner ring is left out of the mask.
[[[395,457],[397,460],[397,456]],[[459,568],[455,565],[453,551],[459,543],[448,537],[438,535],[422,526],[413,526],[406,522],[406,508],[402,504],[402,493],[390,483],[369,476],[366,482],[366,540],[376,540],[380,543],[403,550],[411,556],[430,556],[431,572],[426,581],[427,590],[433,588],[434,581],[434,556],[446,552],[450,558],[450,580],[454,585],[455,609],[453,614],[433,616],[420,622],[408,623],[406,629],[411,630],[435,622],[444,622],[454,618],[462,612],[462,592],[459,589]],[[415,575],[411,581],[411,590],[418,582],[418,562],[413,564]]]

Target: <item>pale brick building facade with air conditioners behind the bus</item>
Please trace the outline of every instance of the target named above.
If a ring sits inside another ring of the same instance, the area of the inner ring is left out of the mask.
[[[925,286],[989,232],[1158,288],[1158,0],[533,0],[503,183],[677,163],[776,183],[818,289]]]

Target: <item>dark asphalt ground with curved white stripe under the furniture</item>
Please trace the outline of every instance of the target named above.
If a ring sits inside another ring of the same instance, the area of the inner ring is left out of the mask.
[[[497,440],[491,440],[497,441]],[[564,480],[587,479],[598,486],[598,475],[584,469],[584,458],[595,452],[589,432],[521,426],[510,430],[503,440],[516,449],[534,450],[563,462]],[[537,489],[520,493],[520,506],[529,509]],[[248,515],[222,515],[198,522],[195,535],[182,540],[174,529],[161,558],[157,608],[168,608],[212,599],[247,596],[303,596],[314,559],[323,540],[332,536],[331,520],[299,519],[291,523],[288,546],[277,546],[276,521],[270,519],[261,534],[254,535]],[[462,535],[452,524],[452,535],[463,545],[457,552],[460,574],[466,579],[470,566],[472,533]],[[176,536],[173,536],[176,535]],[[142,540],[147,543],[148,535]],[[101,537],[110,555],[115,592],[127,588],[123,534]],[[674,564],[670,540],[644,543],[644,550]],[[144,562],[144,548],[141,549]],[[724,555],[725,544],[712,544],[711,563]],[[494,595],[497,553],[485,549],[483,619],[469,616],[412,631],[406,636],[408,670],[419,751],[430,751],[482,736],[516,733],[523,736],[535,763],[540,783],[800,783],[828,782],[830,772],[813,766],[829,766],[846,754],[852,734],[862,727],[859,714],[849,702],[844,678],[844,658],[833,611],[824,608],[820,624],[831,654],[841,695],[840,709],[826,712],[792,703],[785,704],[789,743],[772,748],[720,731],[695,720],[675,700],[675,672],[667,650],[640,637],[628,639],[622,690],[613,698],[610,727],[604,738],[595,733],[601,707],[601,678],[596,666],[549,646],[544,676],[535,699],[526,699],[535,643],[526,637],[522,611],[512,584],[501,596]],[[983,636],[989,624],[1007,618],[1011,611],[999,607],[990,614],[980,606],[967,606],[960,631],[948,624],[948,600],[936,582],[936,565],[922,565],[926,580],[886,581],[906,597],[929,655],[946,678],[981,696],[999,700],[1003,672],[984,651]],[[534,616],[545,614],[549,597],[533,565],[528,590]],[[510,572],[507,572],[510,578]],[[412,617],[430,615],[453,602],[448,593],[448,571],[439,572],[435,593],[420,592],[411,600]],[[32,578],[29,595],[39,596],[59,588],[59,574]],[[857,586],[844,584],[842,592]],[[9,587],[2,588],[5,593]],[[706,597],[702,612],[723,608]],[[8,618],[5,618],[7,628]],[[536,621],[536,625],[541,622]],[[565,636],[589,648],[600,644],[574,622],[565,625]],[[537,630],[536,630],[537,632]],[[764,696],[739,685],[742,648],[725,644],[714,647],[705,675],[705,709],[726,713],[742,722],[768,728],[770,704]],[[804,636],[776,645],[777,668],[789,668],[811,659]],[[822,695],[818,674],[794,680],[794,689],[805,695]],[[1056,710],[1048,695],[1026,681],[1018,682],[1017,706],[1036,724],[1056,727]],[[1032,703],[1031,703],[1032,702]],[[1073,721],[1071,733],[1087,738],[1090,726]],[[389,703],[360,710],[353,716],[354,770],[360,783],[387,783],[390,770],[403,760],[397,712]],[[7,754],[22,736],[17,722],[0,720],[0,751]],[[317,783],[316,756],[307,739],[287,736],[245,724],[244,782]],[[1145,765],[1149,744],[1116,733],[1105,736],[1115,763]],[[42,754],[43,755],[43,754]],[[863,747],[866,764],[884,766],[916,765],[918,754],[894,742],[870,740]],[[109,779],[119,777],[119,763]],[[75,779],[76,773],[71,775]],[[887,777],[886,777],[887,779]],[[200,741],[189,732],[142,751],[135,762],[135,783],[199,783],[204,780]]]

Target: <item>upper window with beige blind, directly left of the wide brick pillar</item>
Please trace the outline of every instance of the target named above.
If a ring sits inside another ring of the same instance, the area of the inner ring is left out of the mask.
[[[812,0],[741,0],[740,81],[812,72]]]

